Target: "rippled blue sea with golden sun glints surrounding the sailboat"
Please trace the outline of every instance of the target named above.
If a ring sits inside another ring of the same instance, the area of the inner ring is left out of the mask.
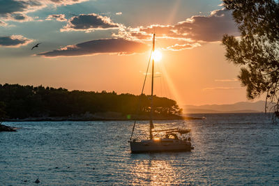
[[[194,149],[131,154],[133,121],[4,122],[0,185],[279,185],[279,125],[266,114],[155,121],[189,128]],[[135,137],[148,137],[148,121]],[[34,183],[38,178],[40,183]]]

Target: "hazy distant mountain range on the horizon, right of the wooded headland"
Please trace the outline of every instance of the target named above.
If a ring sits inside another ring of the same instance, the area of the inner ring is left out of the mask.
[[[272,103],[268,103],[271,107]],[[184,105],[183,113],[253,113],[263,112],[265,107],[264,101],[257,102],[236,102],[235,104],[204,104],[200,106]]]

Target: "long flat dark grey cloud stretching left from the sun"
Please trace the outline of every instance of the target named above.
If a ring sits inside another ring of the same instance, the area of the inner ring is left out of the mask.
[[[77,45],[69,45],[50,52],[43,52],[38,55],[45,57],[58,56],[84,56],[101,53],[111,54],[134,54],[146,52],[147,45],[141,42],[125,40],[122,38],[90,40]]]

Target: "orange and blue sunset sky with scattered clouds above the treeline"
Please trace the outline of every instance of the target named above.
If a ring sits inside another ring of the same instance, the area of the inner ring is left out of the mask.
[[[0,84],[139,95],[153,33],[156,95],[179,105],[247,101],[220,42],[239,36],[220,0],[0,0]],[[148,73],[144,93],[150,87]]]

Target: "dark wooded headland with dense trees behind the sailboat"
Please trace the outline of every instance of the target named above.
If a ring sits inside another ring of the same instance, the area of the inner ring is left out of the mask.
[[[157,96],[153,99],[154,114],[157,116],[173,116],[182,111],[174,100]],[[60,117],[107,111],[136,114],[139,100],[138,113],[149,114],[149,95],[0,84],[0,118]]]

